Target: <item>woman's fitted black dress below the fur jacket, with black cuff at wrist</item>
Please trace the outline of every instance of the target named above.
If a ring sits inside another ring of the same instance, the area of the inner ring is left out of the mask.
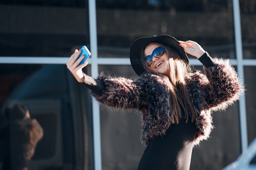
[[[105,88],[104,82],[88,75],[83,84],[98,94]],[[182,108],[181,111],[184,115]],[[196,132],[191,117],[187,123],[181,118],[179,124],[172,124],[164,136],[149,141],[137,170],[189,170]]]

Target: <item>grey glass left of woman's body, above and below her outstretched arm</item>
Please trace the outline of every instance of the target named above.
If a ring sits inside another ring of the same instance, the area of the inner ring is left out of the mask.
[[[112,76],[136,78],[131,66],[99,66]],[[140,141],[140,115],[135,111],[100,110],[102,168],[136,170],[144,147]]]

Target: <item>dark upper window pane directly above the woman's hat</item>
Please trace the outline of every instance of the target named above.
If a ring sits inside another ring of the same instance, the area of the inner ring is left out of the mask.
[[[231,0],[96,2],[99,48],[112,48],[112,57],[119,57],[119,48],[129,50],[136,38],[169,34],[197,41],[212,56],[235,58]]]

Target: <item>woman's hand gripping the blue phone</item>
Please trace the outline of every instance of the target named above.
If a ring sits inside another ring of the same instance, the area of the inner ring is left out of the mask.
[[[85,57],[84,55],[82,55],[78,60],[76,60],[80,53],[81,53],[81,50],[78,51],[76,49],[75,52],[70,56],[70,59],[68,60],[66,65],[67,65],[67,68],[69,69],[69,71],[72,73],[72,75],[76,78],[76,81],[79,83],[82,83],[84,81],[84,75],[83,75],[82,68],[87,66],[88,62],[85,62],[85,63],[81,64],[80,66],[78,66],[78,64]]]

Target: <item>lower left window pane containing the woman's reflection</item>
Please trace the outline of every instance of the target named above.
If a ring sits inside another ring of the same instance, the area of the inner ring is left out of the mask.
[[[29,160],[33,170],[92,169],[92,110],[90,97],[84,95],[88,90],[64,64],[0,68],[0,166],[9,165],[9,159],[15,169]]]

